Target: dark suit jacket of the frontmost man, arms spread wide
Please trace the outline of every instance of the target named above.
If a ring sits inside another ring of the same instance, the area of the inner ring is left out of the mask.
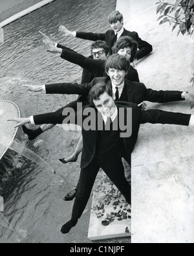
[[[116,102],[116,106],[118,108],[118,115],[120,118],[118,118],[118,122],[121,120],[125,122],[125,124],[131,124],[132,122],[132,134],[130,137],[127,138],[121,138],[122,140],[122,146],[120,148],[120,153],[123,157],[129,157],[131,156],[131,152],[133,151],[133,148],[136,143],[136,139],[138,137],[138,130],[140,124],[144,124],[146,122],[151,122],[153,124],[155,123],[161,123],[161,124],[180,124],[180,125],[186,125],[188,126],[189,120],[191,115],[182,114],[182,113],[172,113],[167,111],[161,111],[161,110],[147,110],[142,111],[136,104],[128,103],[128,102]],[[94,106],[85,106],[85,108],[90,107],[94,108]],[[71,120],[72,123],[78,124],[82,126],[83,121],[90,116],[83,115],[83,108],[82,110],[78,110],[77,116],[75,120]],[[120,112],[120,109],[124,109],[122,113]],[[129,120],[127,122],[127,108],[132,108],[132,120]],[[94,111],[98,113],[96,108],[94,108]],[[63,113],[64,114],[64,113]],[[65,115],[63,115],[61,112],[55,112],[55,113],[46,113],[42,115],[34,115],[34,122],[35,124],[50,124],[50,123],[64,123]],[[98,113],[99,114],[99,113]],[[81,117],[80,119],[77,119],[77,117]],[[96,130],[84,130],[84,127],[82,128],[82,135],[83,135],[83,150],[82,150],[82,156],[81,156],[81,169],[84,169],[91,163],[92,159],[94,158],[95,152],[96,152],[96,141],[97,141],[97,125],[98,122],[100,122],[100,118],[102,119],[102,115],[96,115]],[[97,122],[98,121],[98,122]],[[118,125],[118,127],[120,127]],[[122,131],[125,132],[125,131]]]

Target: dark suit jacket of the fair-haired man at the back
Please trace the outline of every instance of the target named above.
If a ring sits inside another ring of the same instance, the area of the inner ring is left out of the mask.
[[[128,31],[124,29],[124,32],[122,33],[122,36],[131,36],[135,41],[138,42],[138,52],[136,54],[137,60],[140,58],[143,58],[147,54],[149,54],[153,48],[152,46],[147,43],[147,41],[142,40],[139,38],[138,33],[133,31]],[[97,34],[97,33],[90,33],[90,32],[76,32],[76,37],[85,39],[85,40],[91,40],[91,41],[97,41],[102,40],[107,43],[107,45],[110,47],[110,49],[113,47],[113,40],[114,40],[114,30],[108,30],[105,34]]]

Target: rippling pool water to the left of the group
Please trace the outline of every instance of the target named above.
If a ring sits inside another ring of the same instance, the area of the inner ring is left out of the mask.
[[[5,27],[5,43],[0,46],[0,100],[15,102],[22,115],[28,116],[57,110],[76,99],[67,95],[25,92],[23,89],[22,84],[29,82],[81,81],[81,68],[48,53],[38,31],[89,56],[91,42],[61,38],[59,25],[66,25],[70,30],[105,32],[109,29],[107,16],[115,10],[115,5],[116,1],[56,0]],[[89,242],[89,213],[83,215],[70,235],[63,236],[59,232],[69,220],[72,209],[72,203],[63,202],[62,198],[76,185],[80,161],[63,165],[58,159],[72,153],[79,137],[79,132],[65,132],[59,127],[45,132],[34,142],[23,137],[24,146],[56,170],[56,176],[12,153],[6,165],[1,195],[5,200],[3,215],[14,231],[0,226],[0,243]],[[10,152],[8,150],[5,158]]]

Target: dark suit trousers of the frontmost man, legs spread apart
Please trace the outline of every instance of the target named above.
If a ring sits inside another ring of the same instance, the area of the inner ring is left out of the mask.
[[[125,179],[124,165],[121,157],[114,156],[109,159],[94,157],[92,162],[85,169],[81,169],[78,192],[76,193],[72,209],[72,220],[76,221],[81,217],[100,168],[102,168],[109,179],[113,181],[118,190],[122,192],[126,202],[131,204],[131,185],[129,185]]]

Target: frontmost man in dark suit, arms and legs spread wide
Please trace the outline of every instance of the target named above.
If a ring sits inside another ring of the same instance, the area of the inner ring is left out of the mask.
[[[131,204],[131,187],[125,180],[122,156],[124,154],[131,155],[138,137],[140,124],[146,122],[185,126],[193,124],[193,117],[188,114],[161,110],[142,111],[133,103],[114,103],[113,91],[103,83],[92,87],[89,92],[89,101],[92,105],[86,106],[81,111],[78,109],[74,119],[70,118],[69,113],[71,111],[67,110],[63,113],[46,113],[10,120],[18,122],[16,127],[30,122],[31,124],[64,124],[70,121],[82,128],[83,151],[81,155],[80,185],[72,209],[72,218],[61,228],[63,234],[69,233],[70,229],[76,226],[87,205],[100,168],[122,192],[126,202]],[[74,110],[72,110],[72,116],[75,116],[73,114]],[[88,119],[89,117],[90,119]],[[90,129],[88,129],[87,124]],[[127,132],[129,127],[130,132]]]

